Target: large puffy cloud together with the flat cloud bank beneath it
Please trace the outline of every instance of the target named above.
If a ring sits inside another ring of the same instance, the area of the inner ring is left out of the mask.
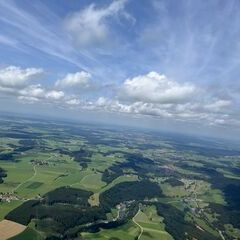
[[[211,126],[238,124],[232,101],[157,72],[127,79],[119,89],[120,97],[100,97],[85,107]]]

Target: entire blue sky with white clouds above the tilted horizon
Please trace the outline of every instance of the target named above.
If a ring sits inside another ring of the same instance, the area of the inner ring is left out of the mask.
[[[239,11],[0,0],[0,110],[240,138]]]

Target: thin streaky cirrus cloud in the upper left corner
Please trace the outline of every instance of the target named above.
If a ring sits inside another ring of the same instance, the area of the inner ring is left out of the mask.
[[[16,1],[0,1],[0,43],[27,53],[28,58],[43,54],[52,60],[88,69],[84,61],[79,61],[78,58],[80,56],[87,60],[90,55],[75,51],[66,33],[62,31],[62,19],[44,3],[35,4],[38,11],[29,11]],[[48,16],[48,22],[39,16],[40,12]]]

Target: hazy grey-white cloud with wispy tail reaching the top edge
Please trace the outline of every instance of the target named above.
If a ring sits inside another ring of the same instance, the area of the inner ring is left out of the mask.
[[[116,0],[105,8],[96,8],[91,4],[69,15],[64,26],[77,46],[86,47],[102,43],[109,34],[107,19],[122,12],[126,2],[127,0]]]

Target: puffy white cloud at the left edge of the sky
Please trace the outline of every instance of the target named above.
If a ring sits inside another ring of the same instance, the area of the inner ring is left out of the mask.
[[[0,86],[5,88],[19,88],[42,75],[41,68],[20,68],[9,66],[0,69]]]

